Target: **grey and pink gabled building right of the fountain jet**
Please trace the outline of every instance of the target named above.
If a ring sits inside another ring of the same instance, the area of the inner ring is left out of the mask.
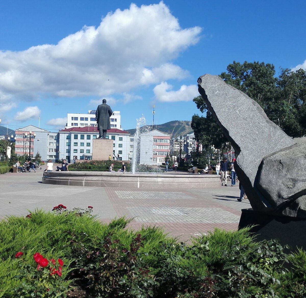
[[[140,134],[140,164],[160,165],[170,152],[170,134],[152,130]]]

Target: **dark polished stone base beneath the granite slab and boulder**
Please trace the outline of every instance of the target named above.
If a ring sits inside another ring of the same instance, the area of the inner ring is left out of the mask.
[[[306,219],[275,216],[250,209],[242,209],[238,229],[256,225],[251,229],[256,240],[278,239],[281,245],[288,244],[291,251],[306,249]]]

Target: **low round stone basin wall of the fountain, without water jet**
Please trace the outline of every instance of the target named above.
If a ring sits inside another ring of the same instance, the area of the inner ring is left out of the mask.
[[[220,176],[177,172],[43,172],[42,183],[120,188],[214,188],[220,187]]]

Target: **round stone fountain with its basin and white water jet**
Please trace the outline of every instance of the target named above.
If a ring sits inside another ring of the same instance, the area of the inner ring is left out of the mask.
[[[212,188],[220,186],[218,175],[197,175],[186,172],[144,172],[148,165],[139,164],[140,143],[146,149],[152,147],[152,140],[141,139],[149,132],[142,115],[137,119],[134,136],[132,172],[43,172],[42,183],[71,186],[120,187],[120,188]],[[149,143],[148,143],[149,142]],[[151,148],[152,149],[152,148]],[[148,149],[149,150],[149,149]]]

